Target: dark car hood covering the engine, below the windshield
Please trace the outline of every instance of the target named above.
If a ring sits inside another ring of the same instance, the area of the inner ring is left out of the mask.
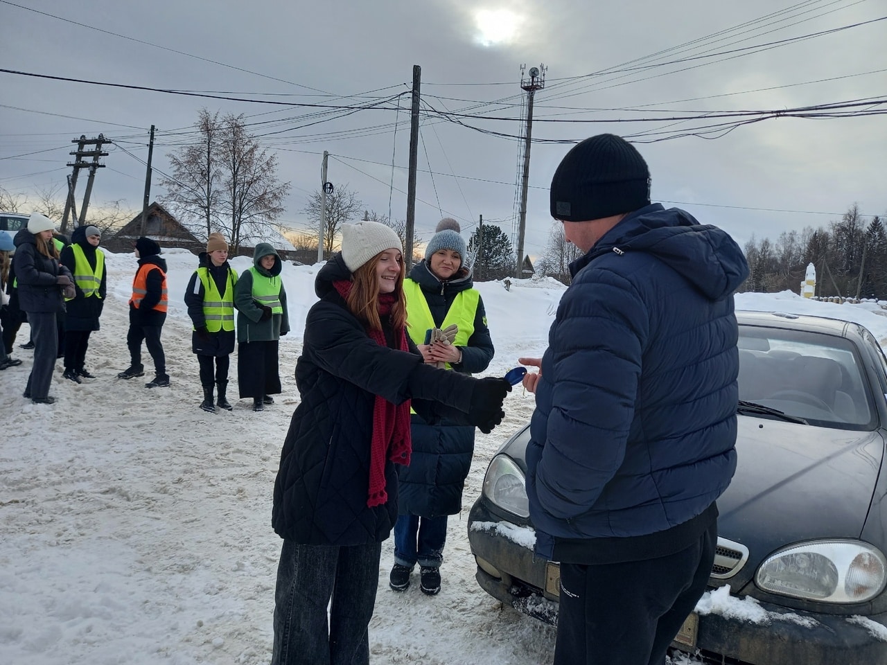
[[[718,536],[749,548],[749,561],[728,580],[734,589],[784,545],[860,538],[882,464],[880,431],[738,419],[736,473],[718,498]]]

